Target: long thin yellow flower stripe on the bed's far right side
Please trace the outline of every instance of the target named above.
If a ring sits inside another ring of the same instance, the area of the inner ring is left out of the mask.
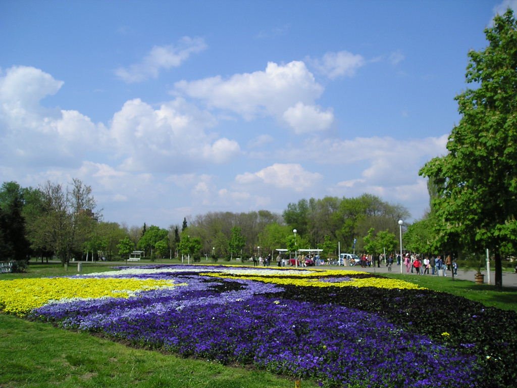
[[[332,272],[332,271],[329,271]],[[369,277],[362,279],[350,278],[347,281],[339,281],[339,282],[328,282],[328,281],[320,281],[319,279],[305,279],[303,276],[300,276],[300,279],[294,278],[280,278],[273,276],[238,276],[238,275],[227,275],[227,274],[217,274],[217,273],[205,273],[200,275],[206,276],[214,276],[214,277],[222,277],[222,278],[232,278],[232,279],[249,279],[249,280],[257,280],[263,281],[265,283],[275,283],[279,285],[295,285],[295,286],[307,286],[307,287],[376,287],[376,288],[385,288],[385,289],[400,289],[400,290],[410,290],[410,289],[423,289],[416,284],[409,283],[403,280],[397,279],[388,279],[388,278],[377,278],[377,277]],[[343,275],[343,274],[341,274]],[[304,275],[307,276],[307,275]],[[312,275],[314,276],[314,275]]]

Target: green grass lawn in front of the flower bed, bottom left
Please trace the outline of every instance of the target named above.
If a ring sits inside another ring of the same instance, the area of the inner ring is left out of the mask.
[[[272,388],[294,382],[259,370],[128,348],[87,333],[0,314],[1,387]],[[303,382],[304,387],[315,387]]]

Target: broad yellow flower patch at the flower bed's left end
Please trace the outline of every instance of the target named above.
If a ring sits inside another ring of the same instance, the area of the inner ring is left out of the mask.
[[[128,278],[34,278],[0,280],[0,310],[19,316],[53,301],[127,298],[136,291],[181,286],[171,280]]]

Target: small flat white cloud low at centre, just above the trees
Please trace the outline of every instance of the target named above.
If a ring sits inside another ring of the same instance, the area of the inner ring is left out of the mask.
[[[292,188],[302,191],[314,186],[322,180],[323,176],[304,170],[296,163],[275,163],[255,173],[237,175],[235,181],[239,184],[265,183],[278,188]]]

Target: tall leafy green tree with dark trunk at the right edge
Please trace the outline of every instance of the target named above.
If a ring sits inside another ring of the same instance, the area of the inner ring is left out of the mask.
[[[466,82],[458,95],[461,120],[452,129],[447,155],[430,160],[420,174],[438,191],[433,210],[441,241],[489,248],[495,285],[502,286],[501,250],[517,243],[517,25],[509,9],[485,29],[489,44],[470,51]]]

